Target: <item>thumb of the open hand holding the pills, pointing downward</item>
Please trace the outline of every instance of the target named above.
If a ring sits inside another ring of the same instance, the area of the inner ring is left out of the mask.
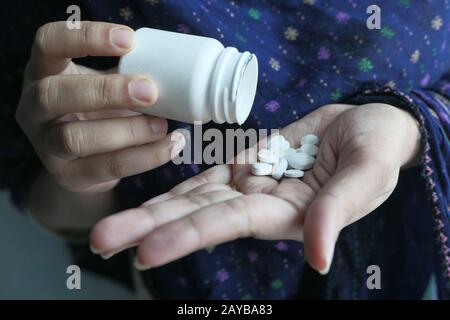
[[[305,256],[312,268],[328,273],[340,231],[378,207],[394,189],[397,179],[389,172],[370,160],[338,169],[328,180],[305,217]]]

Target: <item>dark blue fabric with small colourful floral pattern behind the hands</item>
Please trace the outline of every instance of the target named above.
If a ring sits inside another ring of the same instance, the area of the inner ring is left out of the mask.
[[[260,77],[249,127],[283,127],[333,102],[390,103],[414,114],[423,133],[420,168],[402,172],[380,208],[343,230],[329,275],[317,277],[306,291],[317,285],[323,298],[419,299],[434,275],[439,297],[449,298],[449,5],[383,1],[381,29],[368,30],[366,8],[372,2],[84,1],[83,18],[210,36],[255,53]],[[2,112],[2,123],[13,121],[11,112]],[[189,128],[171,123],[180,126]],[[6,164],[0,183],[20,199],[23,191],[17,191],[11,172],[23,172],[19,163],[35,158],[26,143],[20,150],[0,143],[7,147],[0,154]],[[124,208],[139,205],[203,169],[168,164],[124,179],[118,196]],[[367,289],[371,264],[381,268],[381,290]],[[311,273],[301,244],[244,239],[143,275],[158,297],[280,299],[299,297]]]

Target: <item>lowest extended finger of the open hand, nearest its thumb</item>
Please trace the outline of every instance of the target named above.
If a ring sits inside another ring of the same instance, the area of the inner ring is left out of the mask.
[[[276,210],[274,210],[276,208]],[[298,211],[263,194],[234,197],[166,223],[143,238],[135,266],[157,267],[202,248],[244,237],[301,240]]]

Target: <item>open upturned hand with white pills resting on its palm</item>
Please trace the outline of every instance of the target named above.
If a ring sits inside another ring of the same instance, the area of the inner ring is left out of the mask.
[[[294,147],[307,133],[320,137],[320,151],[301,180],[253,176],[249,164],[212,167],[100,221],[94,250],[107,258],[137,245],[136,266],[146,269],[238,238],[291,239],[327,273],[339,232],[389,197],[420,133],[412,116],[384,104],[324,106],[281,130]],[[251,162],[256,148],[239,156]]]

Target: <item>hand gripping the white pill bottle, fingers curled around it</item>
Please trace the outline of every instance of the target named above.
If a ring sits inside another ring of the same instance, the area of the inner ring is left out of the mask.
[[[133,45],[133,30],[102,22],[82,22],[79,30],[55,22],[36,33],[16,118],[47,170],[68,190],[110,190],[122,177],[168,162],[184,146],[181,135],[167,135],[165,119],[129,110],[157,100],[150,79],[71,60],[122,56]]]

